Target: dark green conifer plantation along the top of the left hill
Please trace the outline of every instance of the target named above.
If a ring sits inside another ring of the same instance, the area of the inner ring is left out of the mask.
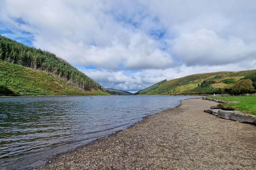
[[[84,91],[105,91],[100,84],[74,68],[67,61],[41,49],[28,47],[0,35],[0,61],[41,70],[65,81],[66,85]]]

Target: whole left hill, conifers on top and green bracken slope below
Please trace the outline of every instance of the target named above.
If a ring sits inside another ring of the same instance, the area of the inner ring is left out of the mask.
[[[15,95],[108,94],[100,84],[55,54],[1,35],[0,62],[0,86]],[[1,95],[8,94],[2,91]]]

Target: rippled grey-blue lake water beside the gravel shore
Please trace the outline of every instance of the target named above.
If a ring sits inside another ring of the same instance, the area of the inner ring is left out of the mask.
[[[180,100],[188,98],[191,96],[0,98],[0,168],[36,166],[144,116],[179,106]]]

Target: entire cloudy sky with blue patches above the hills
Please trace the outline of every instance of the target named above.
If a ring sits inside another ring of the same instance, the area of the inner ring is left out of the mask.
[[[256,69],[255,0],[0,0],[0,34],[105,88]]]

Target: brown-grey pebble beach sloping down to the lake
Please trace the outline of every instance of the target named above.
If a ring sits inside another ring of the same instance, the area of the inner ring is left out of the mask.
[[[35,169],[256,169],[256,126],[204,112],[214,105],[183,100]]]

